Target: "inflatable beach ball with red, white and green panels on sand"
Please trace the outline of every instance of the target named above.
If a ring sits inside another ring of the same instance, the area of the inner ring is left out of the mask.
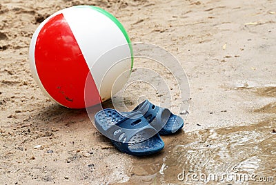
[[[110,99],[128,81],[133,62],[124,27],[95,6],[73,6],[45,19],[32,36],[29,58],[41,90],[68,108]]]

